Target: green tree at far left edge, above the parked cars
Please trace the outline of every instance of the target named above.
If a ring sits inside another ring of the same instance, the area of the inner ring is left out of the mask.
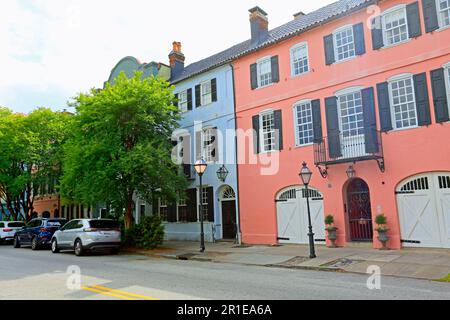
[[[46,108],[29,115],[0,108],[0,194],[15,219],[33,213],[33,188],[59,178],[69,120]]]

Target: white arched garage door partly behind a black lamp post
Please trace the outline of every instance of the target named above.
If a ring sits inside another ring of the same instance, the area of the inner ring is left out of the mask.
[[[311,220],[314,239],[325,242],[325,216],[323,197],[316,190],[309,190]],[[307,244],[308,210],[306,190],[302,187],[292,187],[284,190],[277,197],[278,241],[280,243]]]

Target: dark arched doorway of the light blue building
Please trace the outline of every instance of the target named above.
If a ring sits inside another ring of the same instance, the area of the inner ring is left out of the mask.
[[[236,192],[230,186],[224,186],[220,192],[222,208],[222,237],[234,240],[237,236]]]

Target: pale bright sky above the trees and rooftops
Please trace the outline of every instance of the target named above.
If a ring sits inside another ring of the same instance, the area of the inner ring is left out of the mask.
[[[186,64],[250,38],[248,9],[269,28],[334,0],[7,0],[0,1],[0,106],[15,112],[68,108],[100,88],[125,56],[168,64],[181,41]]]

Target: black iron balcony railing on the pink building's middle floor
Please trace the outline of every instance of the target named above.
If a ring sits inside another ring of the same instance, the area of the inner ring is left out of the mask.
[[[366,128],[356,135],[337,133],[314,144],[317,166],[367,160],[377,160],[384,170],[382,135],[374,128]]]

